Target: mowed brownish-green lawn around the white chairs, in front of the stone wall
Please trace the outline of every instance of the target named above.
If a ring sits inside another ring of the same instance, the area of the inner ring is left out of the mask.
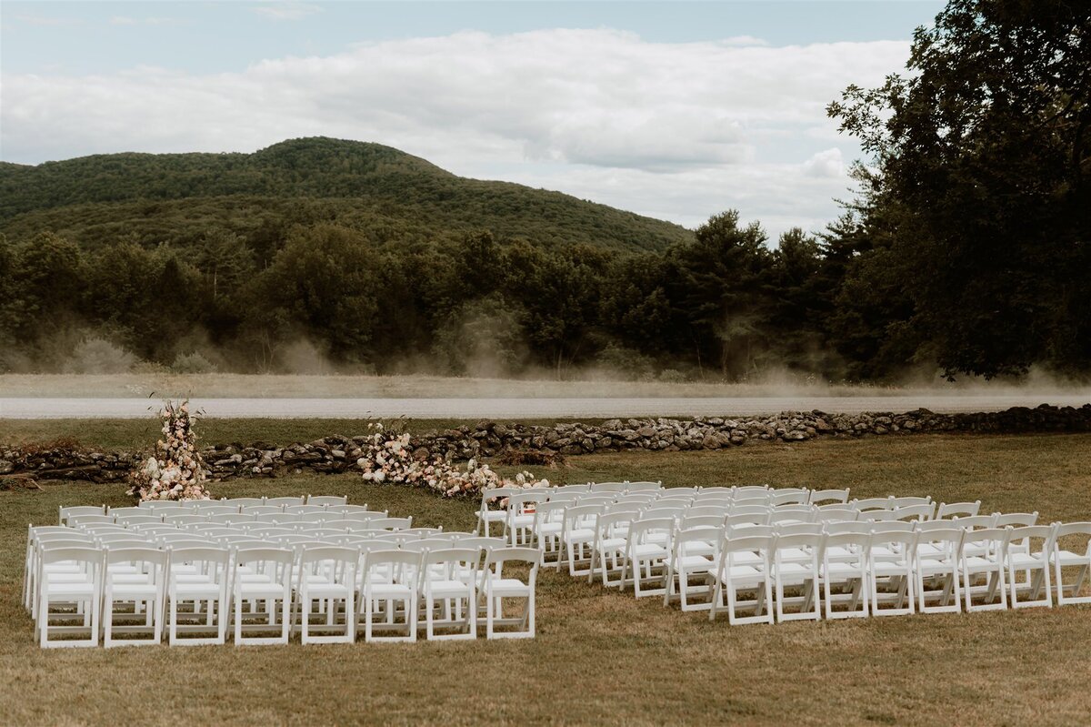
[[[532,468],[533,469],[533,468]],[[572,457],[558,481],[851,487],[1091,520],[1091,436],[913,436]],[[476,503],[356,476],[216,484],[347,493],[465,529]],[[20,604],[26,524],[119,486],[0,492],[0,724],[1078,725],[1091,608],[729,627],[543,572],[533,641],[41,651]]]

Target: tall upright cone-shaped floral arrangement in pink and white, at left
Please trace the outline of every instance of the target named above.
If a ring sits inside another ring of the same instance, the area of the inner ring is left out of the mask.
[[[209,499],[204,486],[208,475],[193,431],[196,415],[190,413],[189,402],[165,402],[159,417],[164,439],[156,442],[155,454],[130,473],[129,494],[140,500]]]

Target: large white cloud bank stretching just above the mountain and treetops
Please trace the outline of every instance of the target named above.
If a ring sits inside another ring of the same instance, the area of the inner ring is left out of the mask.
[[[908,53],[901,41],[772,48],[554,29],[370,43],[237,73],[12,74],[0,154],[253,151],[321,134],[688,226],[738,207],[776,237],[820,226],[847,196],[843,159],[858,152],[825,105],[849,83],[882,83]]]

